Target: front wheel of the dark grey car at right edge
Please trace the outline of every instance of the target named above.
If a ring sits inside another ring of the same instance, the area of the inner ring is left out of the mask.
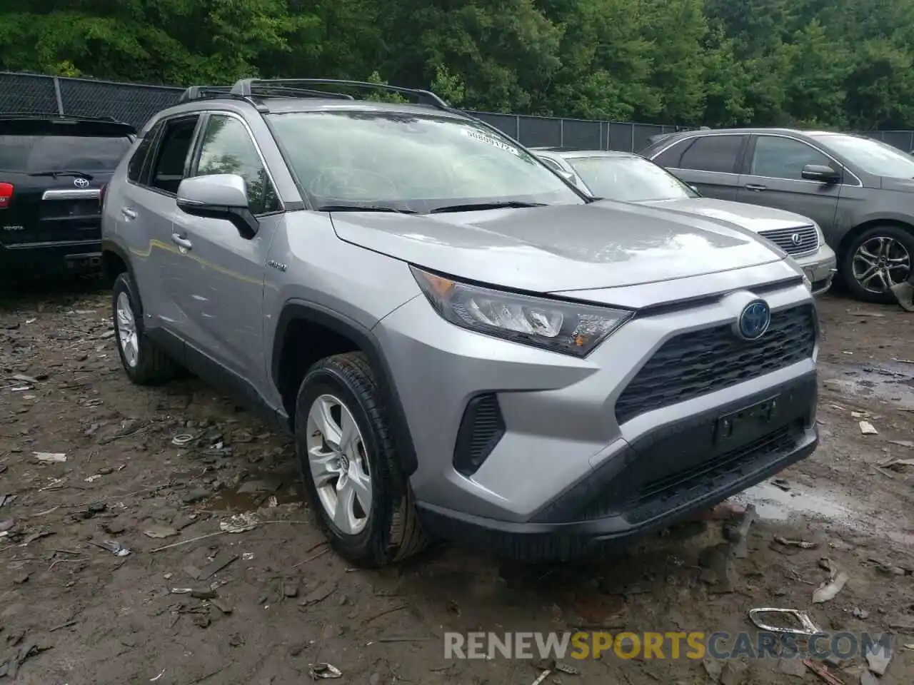
[[[889,290],[911,276],[914,235],[898,226],[867,228],[851,240],[842,258],[841,275],[855,300],[892,304]]]

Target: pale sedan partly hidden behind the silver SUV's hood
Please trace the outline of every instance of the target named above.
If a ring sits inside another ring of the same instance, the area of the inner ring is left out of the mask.
[[[806,274],[814,295],[832,287],[837,270],[834,250],[825,244],[822,229],[806,216],[702,197],[673,174],[637,154],[546,149],[535,153],[543,163],[593,197],[662,206],[747,228],[790,255]]]

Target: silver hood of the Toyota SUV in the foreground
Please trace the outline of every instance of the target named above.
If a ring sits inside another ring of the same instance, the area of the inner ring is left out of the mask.
[[[461,279],[535,292],[631,286],[782,258],[727,222],[610,201],[331,216],[349,243]]]

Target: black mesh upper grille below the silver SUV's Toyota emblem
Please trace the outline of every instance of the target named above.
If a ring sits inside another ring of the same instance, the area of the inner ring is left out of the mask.
[[[771,313],[760,340],[740,340],[729,325],[664,342],[616,400],[623,424],[654,409],[744,383],[813,356],[815,312],[809,305]]]

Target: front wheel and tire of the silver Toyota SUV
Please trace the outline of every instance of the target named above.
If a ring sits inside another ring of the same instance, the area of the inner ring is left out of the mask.
[[[314,515],[337,553],[376,568],[426,546],[364,354],[328,357],[305,374],[295,452]]]

